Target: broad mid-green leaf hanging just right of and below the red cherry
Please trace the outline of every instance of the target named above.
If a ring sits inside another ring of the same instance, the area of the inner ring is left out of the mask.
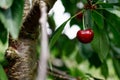
[[[94,29],[94,39],[92,41],[93,49],[98,53],[100,60],[103,62],[109,52],[109,40],[107,33],[104,30],[100,30],[97,27]]]

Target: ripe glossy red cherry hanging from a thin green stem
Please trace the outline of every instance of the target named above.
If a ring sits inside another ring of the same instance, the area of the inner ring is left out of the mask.
[[[77,38],[82,43],[90,43],[93,40],[94,32],[92,29],[79,30]]]

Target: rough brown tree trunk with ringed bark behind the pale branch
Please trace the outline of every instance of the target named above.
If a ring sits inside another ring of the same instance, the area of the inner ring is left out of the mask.
[[[48,11],[56,0],[44,0]],[[35,80],[37,73],[37,43],[40,34],[39,18],[40,0],[25,0],[23,25],[19,38],[10,37],[9,47],[6,50],[6,58],[9,62],[7,76],[9,80]]]

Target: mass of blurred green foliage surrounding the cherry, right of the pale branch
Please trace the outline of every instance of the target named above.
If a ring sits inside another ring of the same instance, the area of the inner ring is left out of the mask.
[[[104,2],[104,0],[93,0],[92,4],[96,5],[96,9],[77,7],[79,3],[86,6],[88,4],[87,0],[61,1],[65,8],[65,13],[69,13],[71,17],[84,10],[83,15],[85,22],[83,23],[81,19],[74,16],[74,18],[70,20],[70,26],[75,24],[83,29],[84,24],[85,27],[92,28],[95,35],[92,43],[83,44],[77,39],[70,40],[62,34],[62,31],[61,33],[57,33],[61,26],[56,31],[53,31],[52,34],[54,35],[51,35],[50,43],[52,43],[51,39],[55,35],[58,35],[58,38],[55,38],[57,40],[51,48],[51,53],[54,55],[54,58],[58,58],[63,62],[64,65],[61,66],[60,69],[64,70],[63,67],[66,67],[68,70],[66,69],[65,71],[75,77],[82,77],[83,74],[86,75],[89,73],[92,75],[89,75],[92,78],[94,76],[107,80],[118,80],[120,78],[120,71],[118,69],[120,65],[120,1],[106,0],[106,2]],[[63,24],[67,23],[64,22]],[[82,63],[86,63],[86,61],[88,63],[83,65]],[[82,70],[79,65],[84,66],[84,68],[88,66],[88,68],[85,68],[86,70],[88,69],[88,71]],[[57,65],[54,64],[54,66]],[[112,68],[110,66],[112,66]],[[93,68],[94,72],[91,72]],[[99,70],[100,73],[96,72],[96,70]],[[75,73],[83,74],[75,75]],[[111,76],[114,77],[111,78]]]

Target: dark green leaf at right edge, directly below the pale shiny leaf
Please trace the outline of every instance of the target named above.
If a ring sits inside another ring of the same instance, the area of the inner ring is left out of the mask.
[[[120,46],[120,27],[118,26],[120,25],[120,17],[118,17],[119,14],[114,14],[115,12],[111,13],[111,11],[108,10],[104,10],[103,12],[105,21],[112,32],[113,40],[116,45]]]

